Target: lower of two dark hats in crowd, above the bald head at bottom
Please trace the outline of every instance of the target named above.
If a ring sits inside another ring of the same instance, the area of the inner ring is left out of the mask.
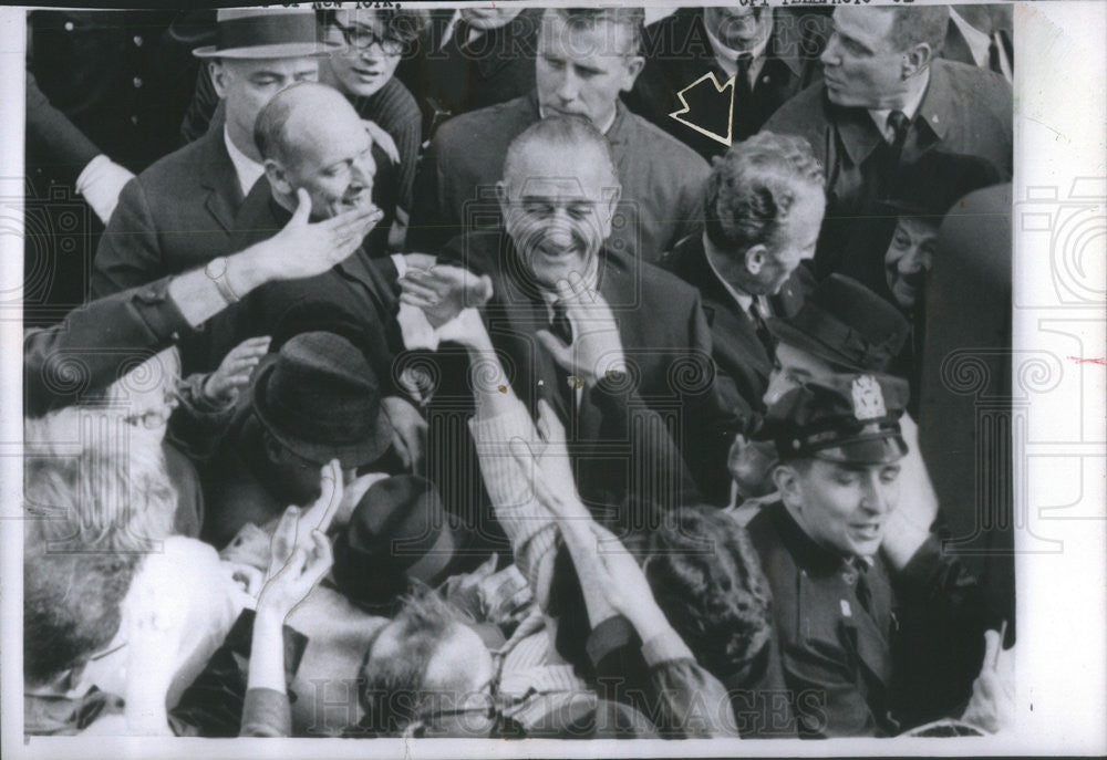
[[[379,480],[334,542],[334,582],[353,602],[387,608],[411,581],[434,587],[454,574],[467,535],[430,481],[414,475]]]

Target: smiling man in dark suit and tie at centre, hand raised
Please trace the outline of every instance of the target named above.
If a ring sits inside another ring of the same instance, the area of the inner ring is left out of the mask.
[[[507,150],[496,185],[503,229],[456,238],[442,258],[492,278],[494,295],[482,311],[493,343],[507,356],[513,387],[531,412],[544,398],[566,420],[586,499],[610,509],[629,483],[639,482],[633,430],[634,409],[642,407],[671,424],[700,490],[725,499],[727,483],[717,481],[726,479],[734,420],[716,393],[700,294],[609,246],[620,190],[608,142],[590,121],[540,119]],[[610,306],[630,366],[628,383],[596,367],[559,363],[565,355],[580,362],[597,330],[590,320],[573,317],[576,299],[588,296],[567,299],[567,283],[579,294],[598,293]],[[542,342],[551,335],[565,344],[561,358]]]

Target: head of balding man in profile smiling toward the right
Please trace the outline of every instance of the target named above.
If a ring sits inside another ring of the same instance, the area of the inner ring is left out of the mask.
[[[312,216],[328,219],[372,205],[373,140],[352,107],[296,114],[286,129],[284,176],[293,192],[308,190]]]

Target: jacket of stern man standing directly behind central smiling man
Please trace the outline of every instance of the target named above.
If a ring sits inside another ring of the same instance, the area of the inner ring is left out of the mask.
[[[467,230],[501,226],[493,188],[503,178],[507,147],[538,118],[531,93],[444,124],[415,177],[407,246],[437,251]],[[707,163],[621,103],[606,136],[622,185],[609,244],[655,262],[702,229]]]

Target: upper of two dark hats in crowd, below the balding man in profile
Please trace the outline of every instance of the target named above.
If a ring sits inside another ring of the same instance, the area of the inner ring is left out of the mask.
[[[360,467],[392,445],[376,375],[350,341],[333,333],[301,333],[266,356],[251,403],[261,426],[310,461]]]

